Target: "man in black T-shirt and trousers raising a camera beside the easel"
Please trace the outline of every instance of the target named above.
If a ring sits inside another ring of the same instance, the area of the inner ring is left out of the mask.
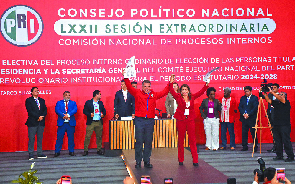
[[[294,161],[294,152],[291,143],[290,133],[291,133],[291,105],[290,101],[287,100],[287,93],[281,91],[279,94],[273,92],[269,87],[269,92],[275,96],[279,101],[269,99],[266,92],[264,93],[265,100],[273,106],[274,112],[274,122],[273,122],[273,138],[276,143],[276,154],[277,156],[273,160],[284,160],[283,155],[283,143],[284,149],[288,158],[285,162]],[[261,88],[260,88],[261,90]],[[272,112],[272,113],[273,113]]]

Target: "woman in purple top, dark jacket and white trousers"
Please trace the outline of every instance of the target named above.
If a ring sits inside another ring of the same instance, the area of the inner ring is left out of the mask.
[[[204,119],[204,129],[206,133],[205,150],[218,150],[219,148],[219,113],[221,102],[215,99],[216,89],[209,87],[207,96],[200,106],[201,117]]]

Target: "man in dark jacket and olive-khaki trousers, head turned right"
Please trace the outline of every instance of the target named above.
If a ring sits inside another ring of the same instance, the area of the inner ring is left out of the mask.
[[[102,148],[102,118],[106,115],[104,104],[100,101],[100,91],[93,92],[93,99],[87,100],[84,105],[83,113],[87,116],[86,120],[86,134],[84,141],[84,153],[82,156],[88,155],[88,146],[93,130],[96,135],[97,154],[104,155],[101,151]]]

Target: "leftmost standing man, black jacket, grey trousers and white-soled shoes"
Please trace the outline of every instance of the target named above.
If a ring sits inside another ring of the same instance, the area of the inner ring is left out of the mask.
[[[34,160],[34,144],[36,134],[38,158],[47,158],[47,156],[43,154],[42,150],[47,107],[45,105],[45,100],[40,97],[38,98],[39,89],[37,87],[32,87],[31,95],[32,97],[26,99],[26,109],[29,115],[26,125],[28,126],[29,133],[29,160]]]

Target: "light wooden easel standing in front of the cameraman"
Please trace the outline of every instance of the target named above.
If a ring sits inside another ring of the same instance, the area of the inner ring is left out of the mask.
[[[264,108],[264,112],[266,114],[266,119],[268,121],[268,127],[263,127],[262,124],[261,124],[261,110],[262,110],[262,105],[263,105],[263,108]],[[260,113],[259,113],[260,112]],[[257,126],[257,120],[258,120],[258,115],[260,114],[260,117],[259,117],[259,127]],[[252,150],[252,157],[254,155],[254,146],[255,146],[255,140],[256,140],[256,135],[257,135],[257,129],[260,128],[260,154],[261,154],[261,142],[262,142],[262,129],[263,128],[269,128],[269,130],[271,131],[271,123],[269,122],[269,118],[268,118],[268,115],[266,113],[266,109],[265,109],[265,105],[262,101],[262,98],[260,97],[259,98],[259,105],[258,105],[258,110],[257,110],[257,117],[256,117],[256,124],[255,124],[255,127],[252,127],[252,128],[255,128],[255,137],[254,137],[254,143],[253,143],[253,150]],[[273,136],[273,132],[271,131],[271,136]]]

